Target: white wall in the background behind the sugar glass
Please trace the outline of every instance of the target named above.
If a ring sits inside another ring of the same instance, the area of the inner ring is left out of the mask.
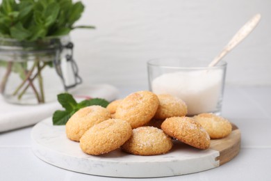
[[[72,32],[75,58],[86,84],[147,88],[150,58],[211,59],[248,19],[260,24],[224,60],[227,84],[271,85],[270,0],[83,0],[77,24],[95,30]]]

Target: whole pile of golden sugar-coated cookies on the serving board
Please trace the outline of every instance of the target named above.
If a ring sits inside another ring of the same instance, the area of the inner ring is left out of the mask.
[[[211,113],[187,117],[186,103],[172,95],[138,91],[108,107],[80,109],[66,124],[66,134],[83,152],[102,155],[122,148],[133,155],[169,152],[172,139],[207,149],[211,139],[231,133],[228,120]]]

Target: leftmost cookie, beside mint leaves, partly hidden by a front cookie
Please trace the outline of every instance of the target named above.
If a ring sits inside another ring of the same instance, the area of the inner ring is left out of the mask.
[[[110,112],[104,107],[90,106],[79,109],[66,123],[67,137],[79,141],[90,127],[110,118]]]

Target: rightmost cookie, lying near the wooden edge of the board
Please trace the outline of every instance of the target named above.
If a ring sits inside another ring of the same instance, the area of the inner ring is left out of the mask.
[[[222,139],[231,134],[231,123],[221,116],[213,113],[200,113],[193,118],[204,127],[211,139]]]

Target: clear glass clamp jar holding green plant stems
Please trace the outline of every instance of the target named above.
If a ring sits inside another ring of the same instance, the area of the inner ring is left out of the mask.
[[[72,48],[69,36],[34,42],[0,38],[0,91],[4,100],[42,104],[80,84]],[[72,81],[67,79],[71,74]]]

